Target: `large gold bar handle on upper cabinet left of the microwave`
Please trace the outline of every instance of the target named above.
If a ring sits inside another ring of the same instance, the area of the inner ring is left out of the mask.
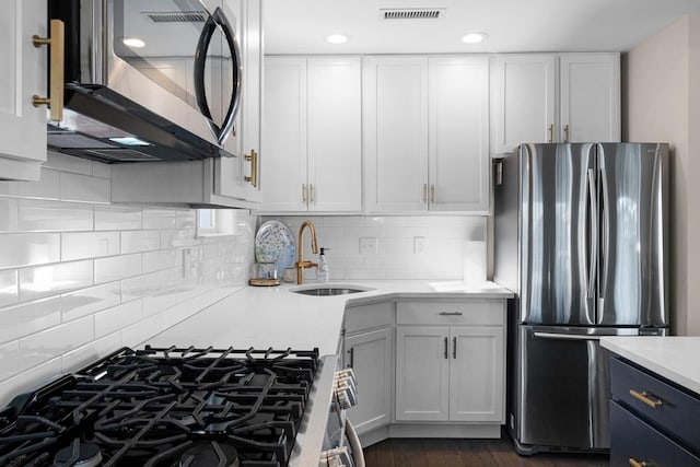
[[[35,107],[39,105],[48,105],[50,108],[49,118],[51,120],[63,119],[63,48],[66,42],[65,25],[61,20],[51,20],[50,22],[50,37],[39,37],[36,34],[32,36],[32,44],[34,47],[40,47],[48,45],[49,50],[49,96],[39,97],[34,94],[32,96],[32,104]]]

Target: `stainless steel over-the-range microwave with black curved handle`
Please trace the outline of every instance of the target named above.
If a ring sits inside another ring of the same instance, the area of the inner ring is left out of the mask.
[[[105,163],[236,155],[236,17],[222,0],[48,0],[65,23],[49,149]]]

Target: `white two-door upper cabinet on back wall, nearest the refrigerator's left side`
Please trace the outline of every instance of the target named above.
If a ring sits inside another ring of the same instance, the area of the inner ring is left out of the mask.
[[[369,212],[488,210],[487,57],[370,57]]]

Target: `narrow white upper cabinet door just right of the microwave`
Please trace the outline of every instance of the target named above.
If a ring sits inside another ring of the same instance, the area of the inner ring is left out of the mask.
[[[261,15],[260,2],[248,0],[225,0],[228,11],[236,19],[235,31],[241,47],[243,82],[238,114],[234,131],[237,138],[230,138],[226,150],[236,157],[215,160],[214,190],[217,195],[260,202],[260,106],[261,106]],[[231,20],[233,21],[233,20]],[[257,161],[252,157],[257,153]],[[253,163],[257,166],[257,179],[253,179]],[[249,177],[249,179],[246,179]]]

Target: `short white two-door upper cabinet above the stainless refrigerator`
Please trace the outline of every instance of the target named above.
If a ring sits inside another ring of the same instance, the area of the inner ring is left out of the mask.
[[[619,54],[498,55],[493,148],[620,141]]]

